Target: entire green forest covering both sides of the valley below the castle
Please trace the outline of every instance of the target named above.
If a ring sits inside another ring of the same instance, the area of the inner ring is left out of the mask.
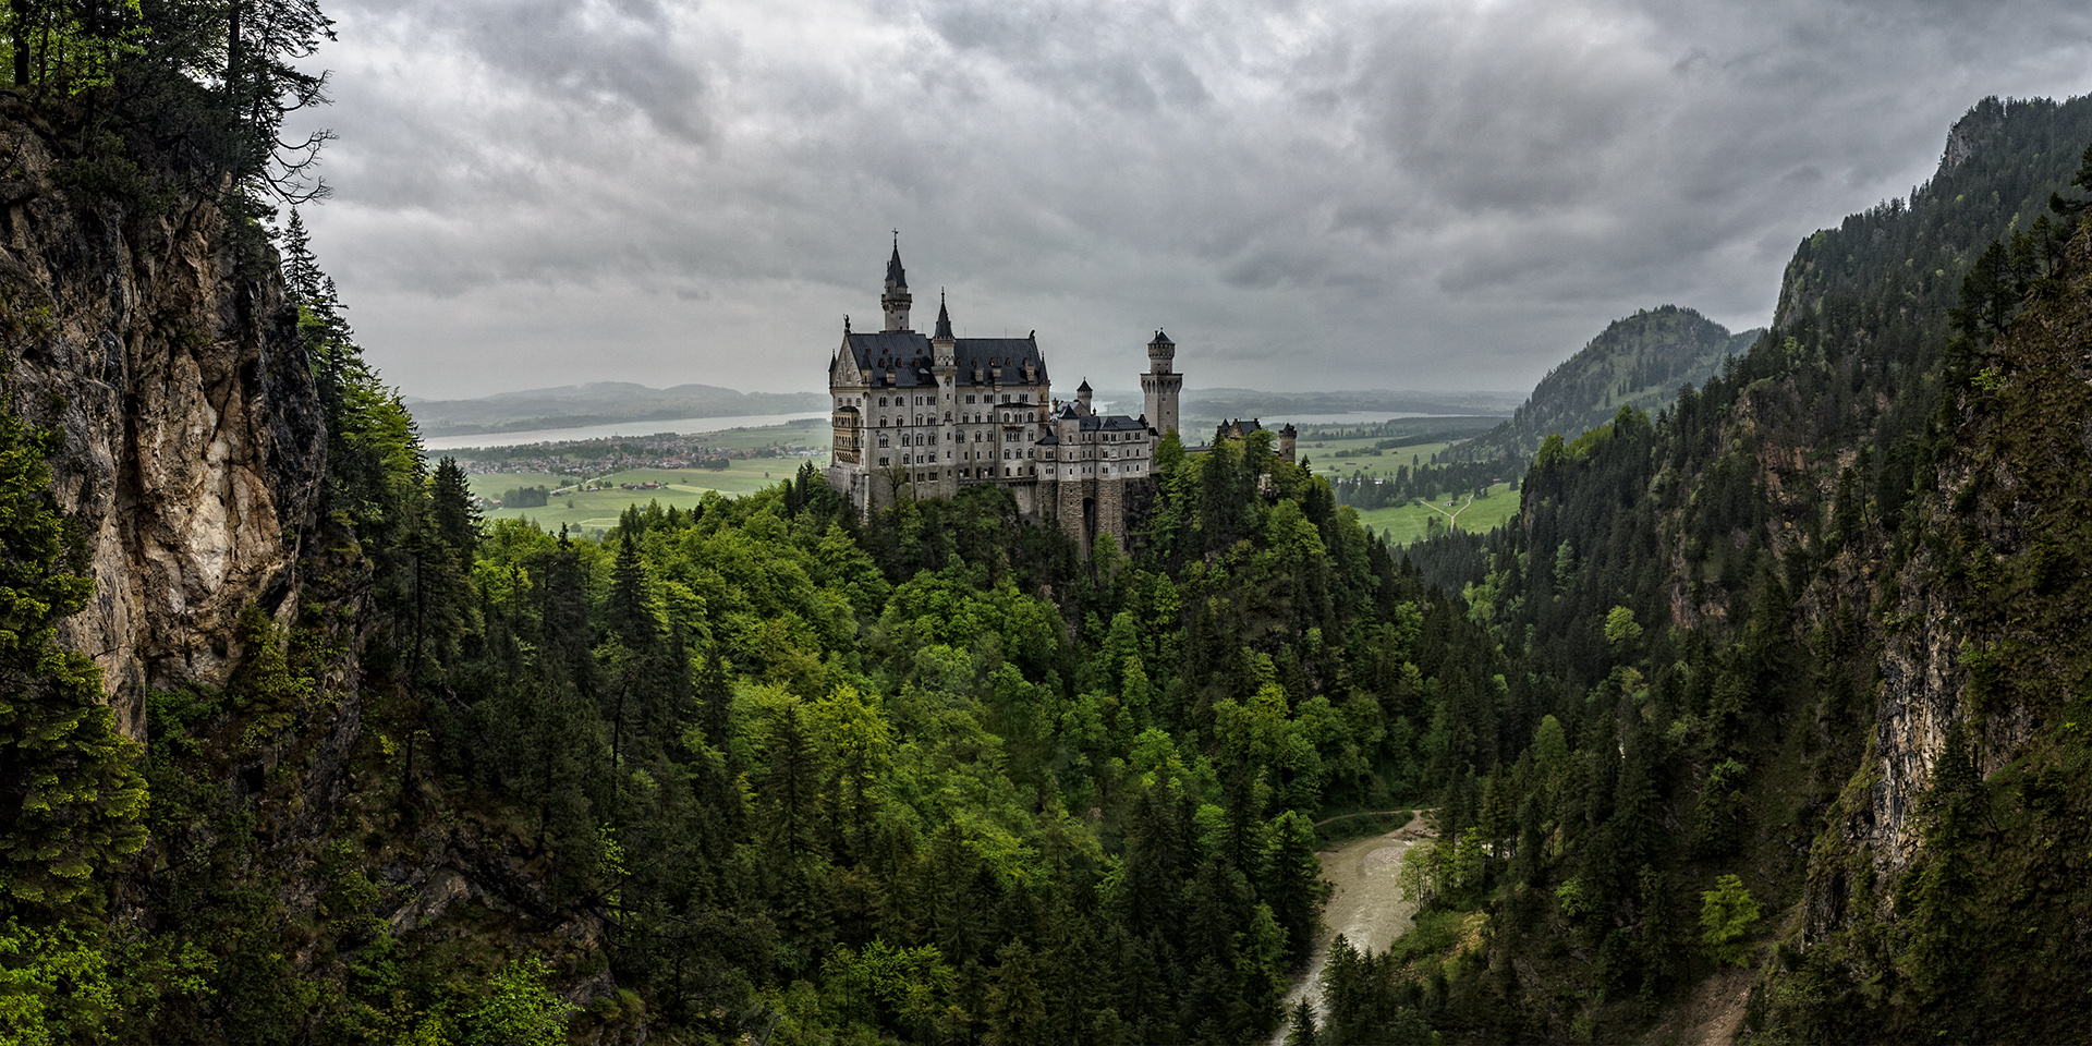
[[[48,192],[209,197],[280,282],[324,490],[291,613],[130,736],[0,410],[0,1042],[1613,1042],[1722,971],[1768,1042],[2092,1017],[2092,100],[1981,103],[1487,536],[1389,548],[1257,433],[1165,437],[1125,548],[812,464],[582,538],[481,521],[362,356],[278,140],[318,6],[4,25]],[[1414,929],[1282,1013],[1314,822],[1391,808]]]

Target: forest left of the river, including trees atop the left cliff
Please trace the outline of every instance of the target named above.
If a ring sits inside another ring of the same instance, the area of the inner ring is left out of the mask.
[[[0,425],[6,1042],[1257,1038],[1316,941],[1312,818],[1525,730],[1487,634],[1268,433],[1165,441],[1134,550],[996,492],[851,519],[812,469],[602,540],[483,523],[295,211],[318,10],[73,13],[8,23],[75,142],[50,190],[226,213],[326,487],[291,611],[132,741],[54,642],[92,596],[56,435]]]

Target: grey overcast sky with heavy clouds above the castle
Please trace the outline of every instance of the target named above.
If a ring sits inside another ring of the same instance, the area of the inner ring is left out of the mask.
[[[822,389],[879,324],[1056,383],[1529,389],[1607,322],[1768,322],[1795,243],[1985,94],[2092,90],[2079,2],[326,0],[308,207],[408,395]]]

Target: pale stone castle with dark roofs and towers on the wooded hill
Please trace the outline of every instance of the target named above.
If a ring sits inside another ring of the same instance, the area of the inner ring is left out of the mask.
[[[937,326],[925,337],[908,326],[910,303],[895,241],[883,328],[858,333],[845,318],[828,362],[828,485],[870,515],[904,496],[950,498],[994,483],[1021,513],[1054,521],[1084,546],[1105,533],[1123,546],[1136,502],[1153,490],[1155,446],[1178,427],[1184,374],[1172,368],[1169,335],[1155,331],[1149,341],[1144,412],[1130,418],[1094,412],[1088,381],[1073,400],[1054,400],[1038,331],[952,337],[939,295]]]

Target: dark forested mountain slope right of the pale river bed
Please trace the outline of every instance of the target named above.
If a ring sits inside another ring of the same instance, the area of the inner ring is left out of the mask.
[[[1722,377],[1414,552],[1548,718],[1429,877],[1481,946],[1347,1006],[1621,1038],[1734,962],[1774,1040],[2082,1036],[2086,142],[2086,98],[1981,103]]]

